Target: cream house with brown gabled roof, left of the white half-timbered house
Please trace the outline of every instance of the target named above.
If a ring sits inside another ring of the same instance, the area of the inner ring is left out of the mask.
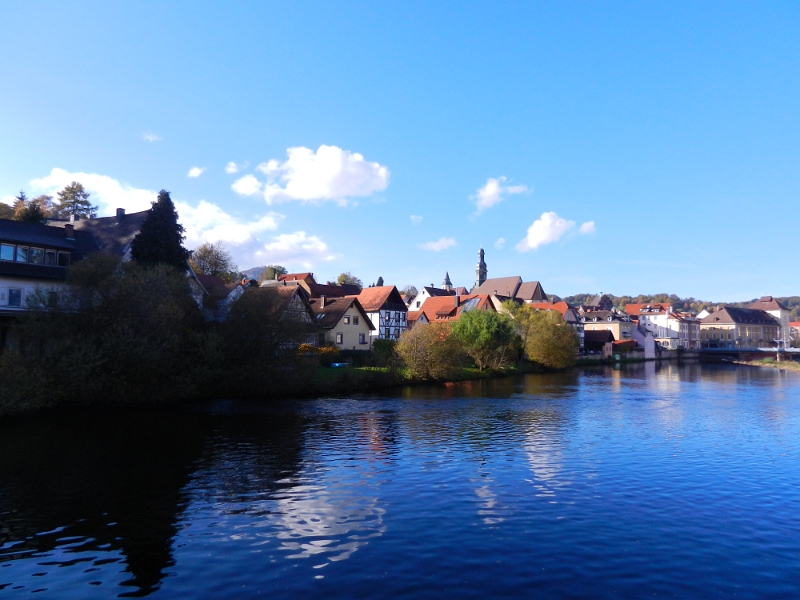
[[[311,298],[309,304],[319,328],[318,346],[330,344],[340,350],[372,348],[372,331],[375,326],[358,301],[358,296],[320,296]]]

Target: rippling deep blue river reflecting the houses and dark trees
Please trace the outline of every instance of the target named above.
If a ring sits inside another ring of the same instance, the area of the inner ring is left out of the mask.
[[[0,596],[800,596],[800,376],[0,419]]]

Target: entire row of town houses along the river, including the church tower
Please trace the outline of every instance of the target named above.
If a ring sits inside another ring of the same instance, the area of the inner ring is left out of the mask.
[[[70,264],[91,252],[130,259],[130,246],[149,211],[46,225],[0,220],[0,343],[14,314],[25,310],[25,298],[37,288],[63,285]],[[674,310],[668,303],[613,306],[608,295],[570,306],[554,301],[539,281],[520,276],[488,278],[484,250],[478,254],[471,289],[456,287],[448,273],[440,287],[423,286],[406,297],[395,286],[364,289],[318,283],[314,274],[292,273],[258,285],[254,280],[225,283],[195,275],[194,296],[208,319],[223,320],[245,293],[273,294],[286,310],[313,324],[309,343],[367,350],[376,339],[397,340],[417,323],[453,322],[471,310],[504,311],[507,301],[537,310],[557,311],[580,340],[582,352],[618,347],[640,348],[645,356],[659,349],[775,347],[787,345],[800,332],[790,311],[771,296],[747,308],[719,307],[699,315]]]

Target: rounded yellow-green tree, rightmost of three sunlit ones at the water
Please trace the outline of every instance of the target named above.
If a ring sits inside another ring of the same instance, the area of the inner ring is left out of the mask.
[[[530,360],[554,369],[575,362],[580,346],[578,336],[558,311],[536,310],[524,304],[514,317]]]

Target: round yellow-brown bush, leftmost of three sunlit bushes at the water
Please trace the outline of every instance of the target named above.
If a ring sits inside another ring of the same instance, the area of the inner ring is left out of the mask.
[[[449,379],[465,360],[464,347],[449,323],[418,323],[403,332],[395,352],[416,379]]]

